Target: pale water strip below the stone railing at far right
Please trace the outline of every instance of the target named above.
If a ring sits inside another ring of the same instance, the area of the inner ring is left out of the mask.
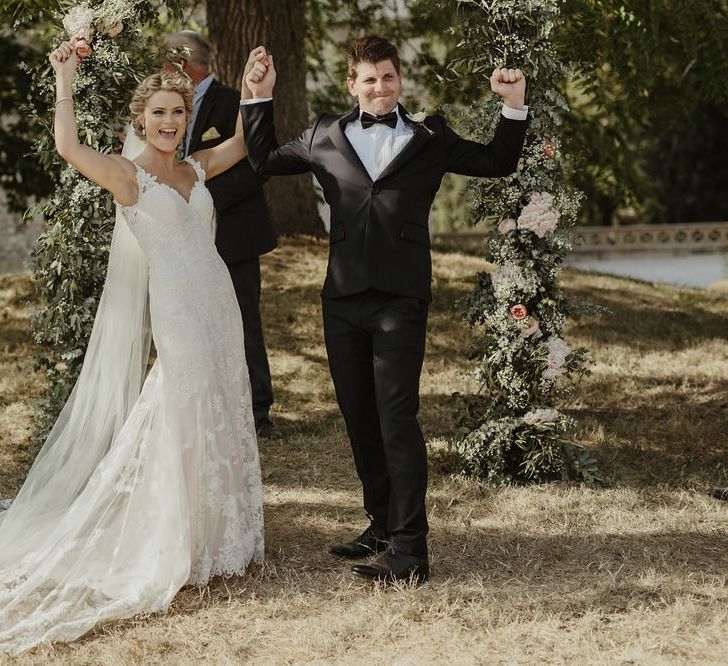
[[[610,275],[666,282],[683,287],[708,287],[728,279],[728,257],[724,254],[635,252],[604,258],[572,255],[568,266]]]

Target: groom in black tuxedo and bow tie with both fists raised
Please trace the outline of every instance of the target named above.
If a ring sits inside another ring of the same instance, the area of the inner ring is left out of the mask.
[[[428,215],[446,172],[506,176],[526,133],[525,80],[498,69],[491,88],[504,106],[495,137],[461,139],[439,116],[415,122],[398,104],[397,49],[379,37],[352,42],[349,92],[358,106],[322,116],[283,146],[273,127],[273,56],[258,47],[241,115],[253,168],[265,175],[311,171],[331,206],[322,301],[336,398],[346,422],[371,521],[331,553],[374,561],[361,576],[427,580],[427,453],[417,423],[431,300]]]

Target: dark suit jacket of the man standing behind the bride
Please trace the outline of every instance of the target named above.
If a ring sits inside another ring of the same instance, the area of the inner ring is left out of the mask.
[[[190,153],[216,146],[235,134],[239,105],[240,93],[213,81],[192,128]],[[202,136],[213,127],[220,136],[203,141]],[[246,158],[206,183],[217,211],[215,244],[226,264],[254,259],[276,246],[263,195],[265,181]]]

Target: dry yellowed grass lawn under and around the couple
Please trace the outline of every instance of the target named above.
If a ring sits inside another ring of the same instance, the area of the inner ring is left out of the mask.
[[[593,375],[567,405],[612,484],[482,487],[433,469],[430,583],[371,586],[330,558],[364,525],[334,402],[318,291],[326,247],[264,264],[282,437],[261,442],[267,559],[165,615],[97,628],[18,664],[722,664],[728,662],[728,296],[567,272],[612,315],[570,325]],[[433,449],[472,388],[453,302],[483,266],[435,253],[421,423]],[[0,497],[32,459],[27,276],[0,278]]]

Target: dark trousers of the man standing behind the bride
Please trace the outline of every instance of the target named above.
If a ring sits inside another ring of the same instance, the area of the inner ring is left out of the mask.
[[[257,423],[268,418],[273,404],[273,386],[260,319],[260,259],[255,257],[228,265],[228,270],[243,315],[245,358],[253,393],[253,416]]]

